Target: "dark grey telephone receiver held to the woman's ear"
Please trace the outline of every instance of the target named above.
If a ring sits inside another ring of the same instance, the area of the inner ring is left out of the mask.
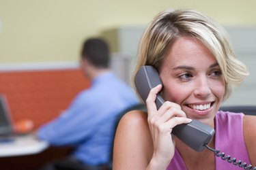
[[[154,67],[145,65],[141,67],[135,75],[134,83],[139,95],[145,102],[150,90],[158,84],[162,84],[162,81],[160,80],[158,71]],[[159,109],[165,100],[158,94],[155,102],[157,109]],[[175,126],[172,133],[186,143],[187,146],[193,148],[193,150],[201,152],[205,149],[205,145],[211,141],[215,131],[212,127],[198,120],[192,120],[192,122],[188,124]]]

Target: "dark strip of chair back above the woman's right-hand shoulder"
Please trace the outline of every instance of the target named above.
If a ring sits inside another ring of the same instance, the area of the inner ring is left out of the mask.
[[[256,105],[222,106],[220,110],[256,116]]]

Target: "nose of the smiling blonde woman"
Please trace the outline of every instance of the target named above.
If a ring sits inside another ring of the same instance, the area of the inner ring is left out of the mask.
[[[212,90],[210,88],[210,82],[208,81],[208,78],[205,76],[198,78],[195,84],[195,96],[205,98],[208,97],[211,92]]]

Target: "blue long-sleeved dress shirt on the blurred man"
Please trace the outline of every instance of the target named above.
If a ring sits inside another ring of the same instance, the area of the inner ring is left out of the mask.
[[[137,103],[128,84],[111,72],[104,73],[77,95],[66,112],[42,126],[38,138],[53,146],[75,146],[72,156],[87,165],[108,163],[115,120],[122,110]]]

